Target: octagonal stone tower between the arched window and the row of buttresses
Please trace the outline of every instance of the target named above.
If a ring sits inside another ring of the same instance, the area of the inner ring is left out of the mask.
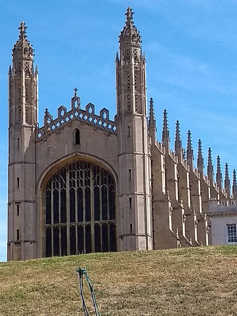
[[[119,249],[152,249],[145,55],[128,7],[116,55]]]

